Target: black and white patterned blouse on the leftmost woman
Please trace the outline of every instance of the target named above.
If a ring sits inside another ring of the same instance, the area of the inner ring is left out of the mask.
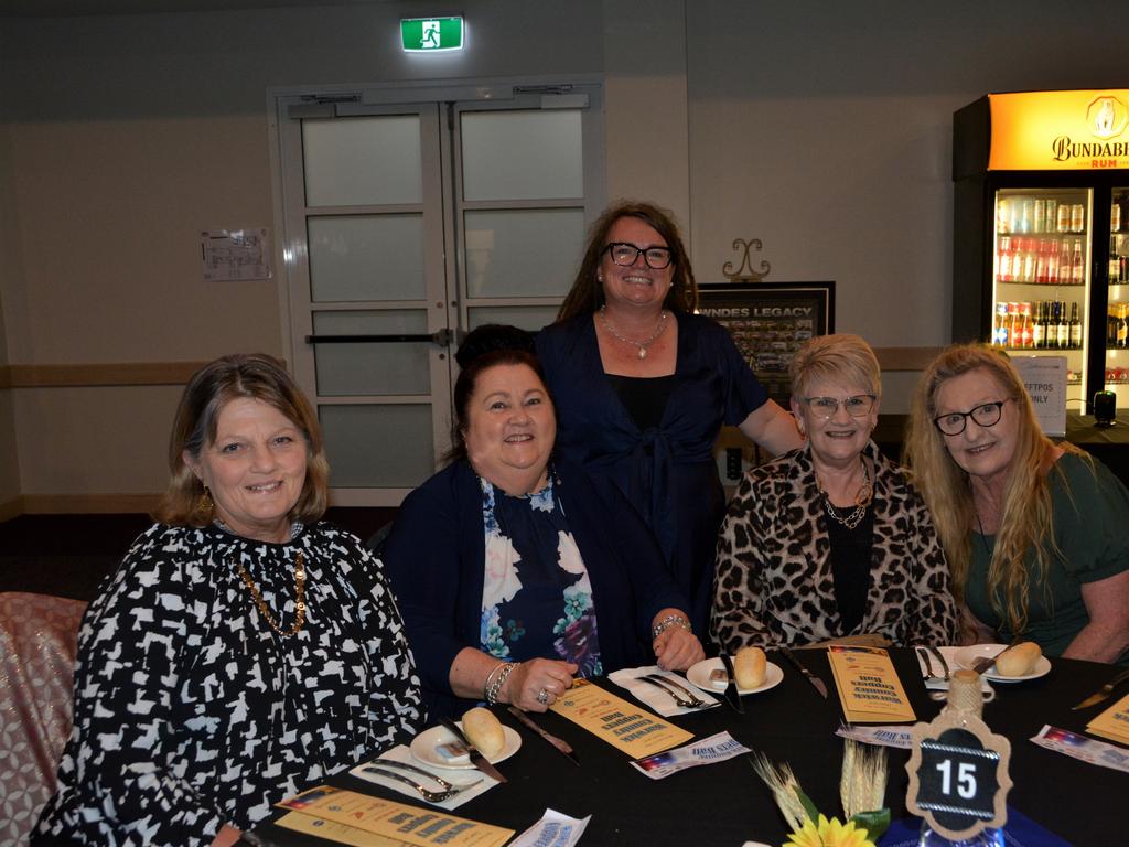
[[[295,558],[306,623],[295,620]],[[75,728],[36,832],[77,844],[208,845],[271,803],[408,740],[419,679],[383,568],[327,524],[286,544],[156,525],[90,604]],[[34,842],[34,839],[33,839]]]

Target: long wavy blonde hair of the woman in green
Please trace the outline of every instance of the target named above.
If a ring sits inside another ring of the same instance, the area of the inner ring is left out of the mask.
[[[988,566],[988,596],[997,615],[1013,634],[1027,627],[1029,594],[1032,584],[1045,586],[1047,570],[1059,548],[1051,525],[1049,473],[1061,473],[1057,465],[1048,471],[1048,454],[1054,444],[1043,435],[1031,398],[1015,366],[1006,353],[983,344],[954,344],[929,364],[913,393],[903,461],[910,478],[933,513],[933,522],[945,548],[953,577],[953,593],[964,600],[972,558],[972,532],[979,529],[969,474],[953,461],[944,436],[934,425],[937,392],[947,381],[973,370],[990,376],[1004,396],[1014,401],[1005,413],[1018,417],[1015,454],[1004,487],[999,531],[991,564]],[[1060,447],[1080,453],[1064,442]],[[1025,559],[1034,556],[1034,574]]]

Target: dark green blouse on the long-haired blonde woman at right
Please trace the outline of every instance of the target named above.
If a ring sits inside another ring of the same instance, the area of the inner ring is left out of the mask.
[[[1049,656],[1058,656],[1089,623],[1082,586],[1129,569],[1129,491],[1097,460],[1066,453],[1051,471],[1053,536],[1061,555],[1052,556],[1047,578],[1029,590],[1027,632]],[[1001,641],[1014,634],[988,600],[988,565],[995,535],[972,533],[972,560],[964,600],[972,613],[997,630]],[[1029,566],[1033,567],[1027,557]],[[1047,588],[1047,590],[1044,590]],[[1121,661],[1129,660],[1129,654]]]

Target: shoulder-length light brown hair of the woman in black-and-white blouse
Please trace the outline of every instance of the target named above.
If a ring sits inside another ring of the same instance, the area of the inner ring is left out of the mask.
[[[312,523],[325,513],[330,463],[314,408],[281,361],[265,353],[236,353],[200,368],[181,395],[168,439],[168,487],[152,512],[155,521],[174,526],[203,526],[211,522],[212,515],[199,508],[203,483],[184,462],[184,453],[199,459],[201,451],[216,440],[224,407],[239,398],[273,407],[306,439],[306,480],[290,509],[290,519]]]

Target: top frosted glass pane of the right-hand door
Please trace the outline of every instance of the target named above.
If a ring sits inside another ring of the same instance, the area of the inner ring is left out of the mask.
[[[584,197],[580,112],[464,112],[463,199]]]

